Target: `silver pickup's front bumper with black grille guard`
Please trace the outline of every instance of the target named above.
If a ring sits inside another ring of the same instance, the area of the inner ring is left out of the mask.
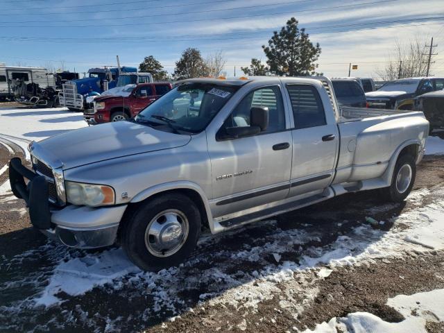
[[[27,184],[24,178],[29,180]],[[10,160],[9,180],[12,193],[26,201],[31,224],[49,238],[74,248],[101,248],[116,241],[126,205],[51,205],[46,178],[24,167],[18,157]]]

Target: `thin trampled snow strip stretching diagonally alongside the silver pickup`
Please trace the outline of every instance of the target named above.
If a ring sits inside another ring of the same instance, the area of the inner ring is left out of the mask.
[[[439,189],[436,193],[444,196],[444,189]],[[418,200],[417,198],[421,196],[413,192],[411,197],[413,200]],[[335,266],[359,264],[366,259],[398,256],[411,250],[423,251],[431,248],[441,250],[444,249],[443,221],[444,200],[441,199],[395,218],[395,225],[400,223],[408,225],[407,230],[400,231],[392,228],[392,230],[384,232],[373,229],[371,225],[361,225],[348,235],[338,237],[332,244],[308,248],[298,264],[280,259],[278,265],[270,264],[264,266],[260,271],[253,271],[252,276],[246,280],[234,280],[231,275],[223,273],[217,265],[214,265],[199,276],[199,282],[216,282],[215,284],[208,283],[214,288],[212,290],[210,287],[206,290],[200,295],[200,299],[211,299],[211,305],[229,303],[234,307],[242,306],[255,309],[259,302],[272,298],[273,294],[278,291],[276,283],[289,282],[289,286],[293,288],[296,275],[298,278],[302,278],[305,272],[313,269],[317,271],[318,278],[325,278]],[[273,221],[269,223],[273,223]],[[260,262],[266,256],[275,259],[275,257],[280,257],[282,253],[294,251],[298,244],[306,244],[309,241],[316,241],[316,239],[318,239],[316,231],[282,230],[268,237],[265,245],[251,246],[246,250],[218,253],[217,255],[228,255],[233,261]],[[200,241],[199,246],[205,247],[215,241],[218,241],[217,237],[206,237]],[[193,261],[191,260],[186,265],[192,266]],[[170,268],[157,274],[144,273],[128,261],[121,249],[105,250],[100,255],[87,254],[82,257],[72,257],[69,254],[68,257],[60,257],[60,261],[49,278],[49,283],[35,296],[33,301],[35,305],[49,306],[61,301],[56,297],[60,291],[77,296],[105,284],[112,283],[114,287],[119,288],[122,278],[128,278],[129,274],[131,275],[130,280],[134,282],[143,282],[142,284],[156,287],[160,303],[180,303],[181,300],[176,295],[178,290],[171,288],[171,285],[183,285],[183,280],[185,280],[185,284],[196,283],[192,280],[192,276],[183,276],[181,272],[179,267]],[[221,288],[217,286],[218,284],[225,286],[223,293],[221,293]],[[304,288],[307,288],[306,284]],[[307,289],[306,296],[307,299],[314,298],[316,290]],[[281,306],[284,309],[288,308],[288,301],[282,302]],[[301,309],[293,307],[291,312],[296,316],[298,310]]]

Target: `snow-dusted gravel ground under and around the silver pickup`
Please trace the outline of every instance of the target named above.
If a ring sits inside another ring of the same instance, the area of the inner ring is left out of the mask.
[[[11,156],[0,145],[0,168]],[[112,271],[120,264],[119,248],[81,251],[46,241],[31,228],[22,200],[0,196],[0,332],[296,332],[356,311],[400,322],[404,317],[387,299],[444,288],[442,251],[411,249],[346,265],[291,268],[290,278],[284,263],[302,266],[307,256],[334,253],[341,239],[352,239],[348,250],[359,256],[386,232],[408,232],[409,225],[393,217],[444,198],[443,178],[444,156],[427,156],[418,166],[415,200],[381,203],[376,191],[339,196],[241,231],[205,234],[178,268],[154,274],[126,267],[105,282],[91,282],[94,275],[82,277],[69,264],[104,262]],[[369,225],[366,216],[385,223]],[[58,274],[92,287],[78,294],[56,288],[60,301],[39,306],[42,293],[63,284],[54,282]],[[443,332],[443,325],[429,321],[427,332]]]

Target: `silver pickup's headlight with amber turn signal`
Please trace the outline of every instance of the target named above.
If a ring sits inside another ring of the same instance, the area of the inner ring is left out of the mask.
[[[106,185],[65,182],[67,201],[73,205],[98,207],[114,205],[114,189]]]

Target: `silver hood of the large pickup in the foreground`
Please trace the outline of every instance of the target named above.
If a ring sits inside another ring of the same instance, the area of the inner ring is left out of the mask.
[[[62,169],[67,170],[112,158],[185,146],[190,140],[190,135],[118,121],[71,130],[33,143],[31,153],[35,149],[36,157],[43,162],[57,161],[56,164],[62,164]]]

